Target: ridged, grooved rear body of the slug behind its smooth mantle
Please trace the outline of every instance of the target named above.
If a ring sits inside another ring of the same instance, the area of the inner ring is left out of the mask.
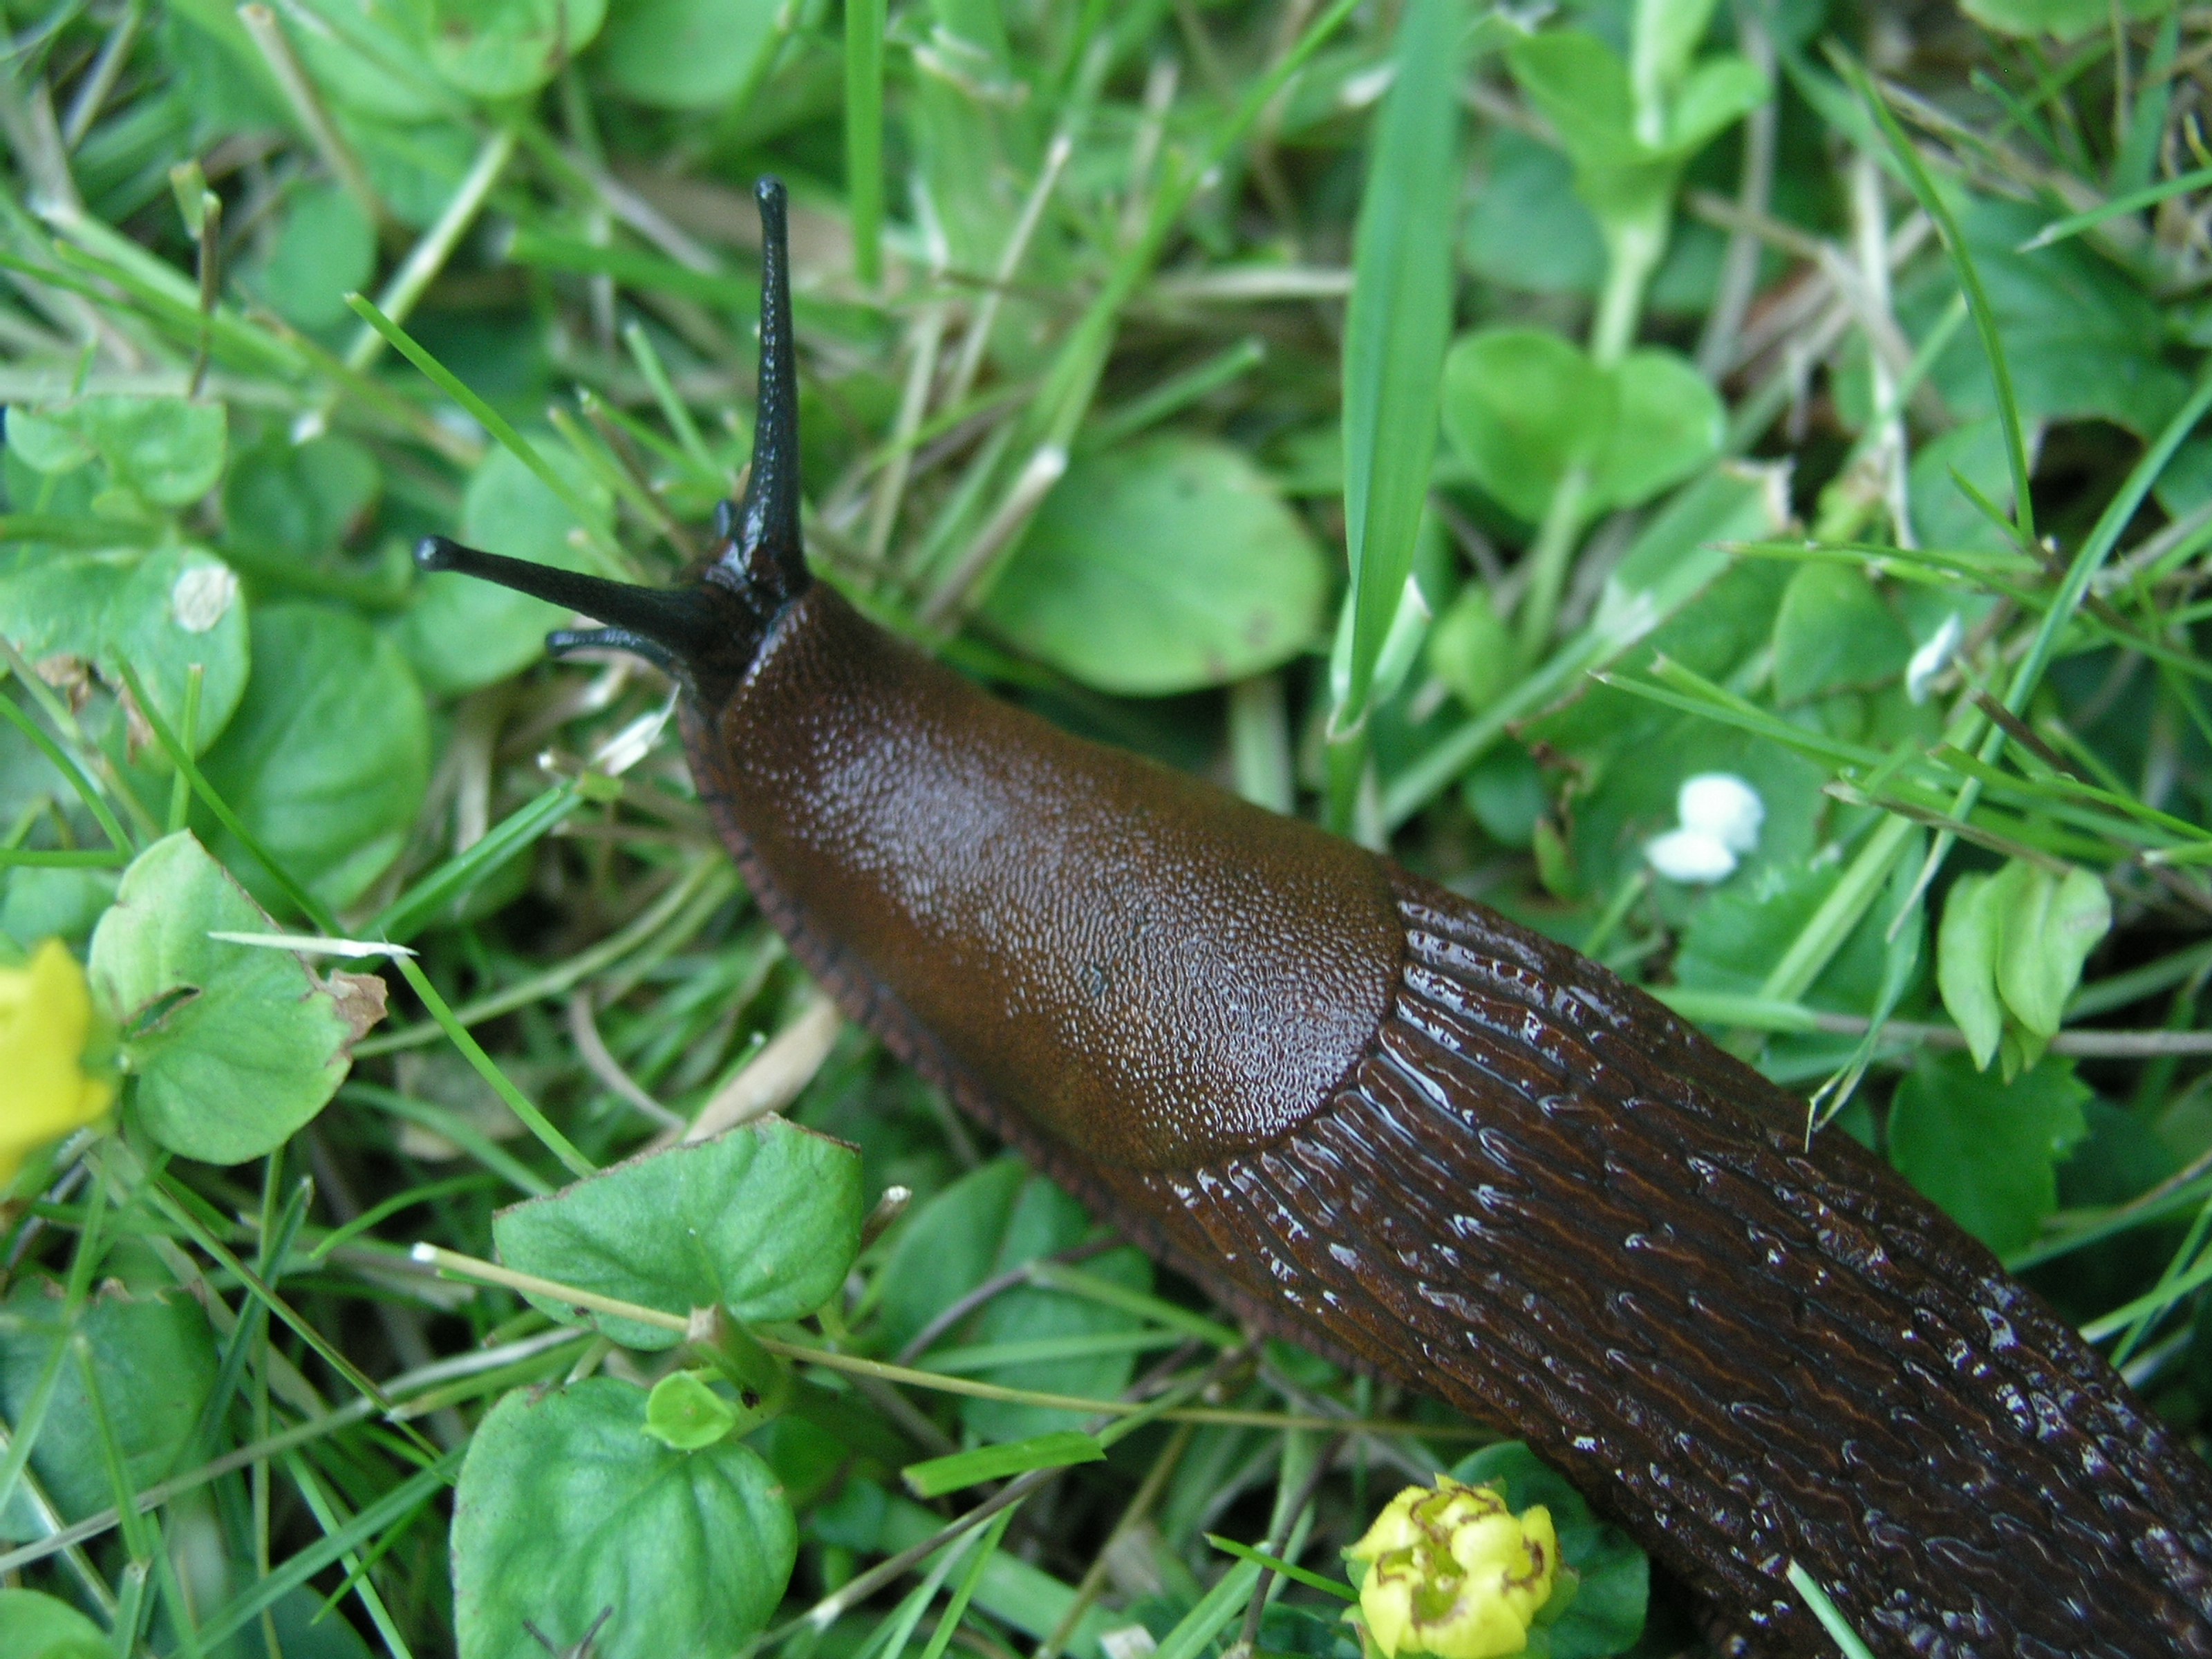
[[[1327,1110],[1128,1194],[1179,1256],[1531,1438],[1747,1610],[1739,1652],[1832,1650],[1792,1557],[1882,1650],[2212,1652],[2203,1469],[2070,1329],[1604,969],[1409,876],[1400,909]]]

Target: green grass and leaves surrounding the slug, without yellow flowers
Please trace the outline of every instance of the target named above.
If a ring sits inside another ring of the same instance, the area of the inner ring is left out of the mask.
[[[659,675],[414,571],[706,553],[763,173],[823,580],[1655,991],[2201,1444],[2203,15],[0,15],[0,967],[126,1077],[0,1210],[0,1659],[1352,1659],[1250,1548],[1451,1467],[1553,1652],[1694,1644],[841,1026]]]

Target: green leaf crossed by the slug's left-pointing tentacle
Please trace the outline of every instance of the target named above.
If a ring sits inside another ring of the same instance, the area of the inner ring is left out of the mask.
[[[538,453],[566,476],[595,509],[595,529],[613,522],[606,484],[591,478],[564,445],[540,442]],[[568,542],[575,515],[507,449],[493,449],[469,478],[460,504],[460,540],[511,560],[588,568]],[[449,697],[507,679],[544,655],[551,628],[568,622],[557,604],[513,588],[440,571],[422,577],[422,593],[398,626],[400,646],[425,690]]]

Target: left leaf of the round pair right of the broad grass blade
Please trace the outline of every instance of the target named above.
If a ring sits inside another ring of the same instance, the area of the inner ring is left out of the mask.
[[[1540,327],[1462,334],[1444,356],[1444,434],[1475,482],[1531,522],[1568,467],[1604,453],[1613,407],[1604,369]]]

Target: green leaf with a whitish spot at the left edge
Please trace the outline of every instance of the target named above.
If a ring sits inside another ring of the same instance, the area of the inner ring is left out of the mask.
[[[199,664],[195,754],[215,743],[246,695],[246,599],[230,566],[197,546],[0,553],[0,633],[31,661],[82,657],[113,688],[131,664],[173,732],[184,726],[186,681]]]

